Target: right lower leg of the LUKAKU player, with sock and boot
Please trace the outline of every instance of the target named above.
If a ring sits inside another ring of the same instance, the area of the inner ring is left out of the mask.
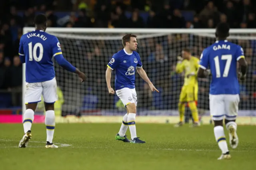
[[[46,148],[58,148],[52,143],[54,128],[55,128],[55,114],[54,114],[54,103],[44,103],[46,110],[45,113],[45,125],[46,125]]]

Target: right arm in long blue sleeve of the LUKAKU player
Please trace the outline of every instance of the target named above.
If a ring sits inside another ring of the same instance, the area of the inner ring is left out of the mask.
[[[85,81],[86,75],[82,71],[80,71],[78,68],[76,68],[72,64],[70,64],[66,59],[64,59],[63,55],[61,55],[61,54],[56,55],[55,59],[56,59],[57,63],[64,69],[78,74],[78,77],[80,77],[81,82]]]

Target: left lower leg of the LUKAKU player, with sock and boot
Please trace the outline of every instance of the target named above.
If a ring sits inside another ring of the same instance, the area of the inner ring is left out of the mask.
[[[26,148],[28,146],[28,142],[31,139],[31,127],[34,121],[34,111],[36,110],[37,102],[36,103],[29,103],[26,104],[26,111],[23,115],[23,128],[24,128],[24,136],[20,140],[19,147]]]

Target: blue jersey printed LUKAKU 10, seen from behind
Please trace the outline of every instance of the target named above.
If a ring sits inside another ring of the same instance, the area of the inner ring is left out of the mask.
[[[26,82],[36,83],[55,77],[52,57],[62,54],[56,36],[41,30],[24,34],[20,38],[19,55],[25,57]]]

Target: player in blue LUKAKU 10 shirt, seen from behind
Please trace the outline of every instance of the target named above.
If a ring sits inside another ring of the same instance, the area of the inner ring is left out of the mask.
[[[26,111],[23,119],[25,134],[20,140],[20,148],[26,147],[31,138],[34,111],[37,103],[41,101],[41,95],[44,97],[46,110],[46,148],[58,148],[52,143],[55,127],[54,103],[57,101],[57,83],[52,57],[64,69],[78,74],[81,81],[86,79],[84,73],[64,59],[58,38],[45,32],[46,22],[46,16],[38,14],[34,20],[35,31],[28,32],[20,38],[19,55],[22,63],[26,63]]]

